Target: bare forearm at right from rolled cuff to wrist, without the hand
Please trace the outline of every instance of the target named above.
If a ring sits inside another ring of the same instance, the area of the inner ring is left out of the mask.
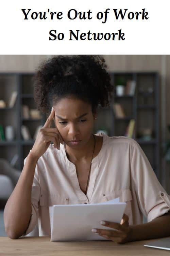
[[[151,222],[130,226],[129,241],[147,240],[170,236],[170,211]]]

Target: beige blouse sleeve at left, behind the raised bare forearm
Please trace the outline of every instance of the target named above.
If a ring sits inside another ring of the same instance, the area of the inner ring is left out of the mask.
[[[24,165],[26,163],[27,157],[24,159]],[[35,174],[33,179],[32,191],[31,191],[31,217],[29,225],[26,231],[23,233],[23,236],[29,234],[36,226],[38,222],[38,202],[40,200],[40,185],[38,178],[38,162],[35,167]]]

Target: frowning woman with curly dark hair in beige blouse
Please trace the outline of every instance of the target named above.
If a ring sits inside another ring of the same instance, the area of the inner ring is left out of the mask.
[[[108,106],[113,92],[105,68],[100,56],[57,56],[36,73],[35,101],[51,113],[4,209],[10,238],[28,234],[37,220],[39,235],[50,236],[51,205],[116,197],[126,202],[122,221],[101,220],[113,230],[93,229],[97,236],[125,243],[170,235],[170,198],[138,143],[93,134],[97,108]],[[148,223],[142,224],[143,215]]]

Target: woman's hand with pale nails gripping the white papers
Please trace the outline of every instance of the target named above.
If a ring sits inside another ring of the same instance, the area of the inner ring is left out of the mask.
[[[111,229],[92,229],[92,232],[99,234],[99,236],[105,237],[106,239],[112,240],[113,242],[117,242],[119,244],[126,243],[130,241],[130,227],[129,227],[129,217],[126,214],[123,214],[120,224],[115,222],[108,221],[101,222],[101,225],[109,228],[114,228],[116,230]],[[102,224],[103,223],[103,224]]]

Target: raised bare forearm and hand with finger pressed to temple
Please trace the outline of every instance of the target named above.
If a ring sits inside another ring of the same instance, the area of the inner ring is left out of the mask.
[[[57,128],[50,128],[55,112],[52,108],[51,114],[46,120],[43,128],[37,134],[35,143],[30,151],[24,168],[13,193],[8,199],[4,209],[4,223],[7,235],[16,239],[26,231],[31,217],[31,193],[34,181],[35,167],[40,156],[42,156],[53,141],[55,147],[60,148],[63,142]]]

